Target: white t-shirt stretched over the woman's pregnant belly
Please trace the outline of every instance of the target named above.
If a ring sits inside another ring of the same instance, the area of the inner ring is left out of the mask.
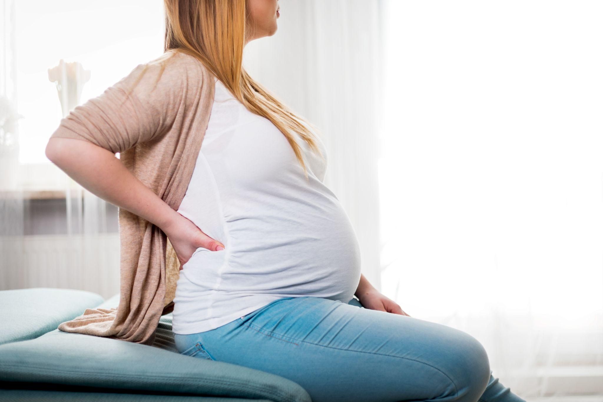
[[[225,250],[183,265],[173,330],[212,330],[282,297],[347,303],[360,280],[349,217],[324,184],[326,162],[297,136],[309,181],[286,137],[215,78],[203,145],[178,212]],[[324,143],[318,138],[325,158]]]

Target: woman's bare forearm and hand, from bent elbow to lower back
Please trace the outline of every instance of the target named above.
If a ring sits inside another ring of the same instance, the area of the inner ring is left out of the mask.
[[[84,140],[56,137],[48,141],[46,157],[96,196],[163,230],[181,265],[198,247],[224,247],[134,177],[113,152]]]

